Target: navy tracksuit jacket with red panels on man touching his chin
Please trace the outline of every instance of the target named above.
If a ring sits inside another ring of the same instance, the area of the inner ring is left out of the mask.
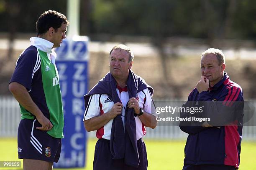
[[[242,101],[240,103],[242,103],[243,107],[243,92],[241,87],[231,81],[227,73],[225,73],[222,80],[210,87],[208,91],[203,91],[199,94],[195,88],[188,97],[188,101],[192,101],[189,103],[189,107],[195,107],[201,101],[213,100],[223,101],[223,105],[227,106],[232,105],[231,101]],[[211,110],[215,110],[214,114],[216,115],[220,114],[217,108],[211,108]],[[243,115],[243,109],[238,111]],[[242,128],[241,119],[229,126],[222,125],[211,128],[203,128],[201,124],[196,126],[180,124],[180,129],[189,134],[184,149],[184,164],[231,165],[238,169]]]

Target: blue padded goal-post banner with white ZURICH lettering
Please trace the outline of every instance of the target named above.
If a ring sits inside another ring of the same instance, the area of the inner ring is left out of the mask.
[[[56,48],[56,67],[64,109],[64,139],[55,168],[85,166],[87,133],[84,130],[84,98],[88,91],[88,38],[64,39]]]

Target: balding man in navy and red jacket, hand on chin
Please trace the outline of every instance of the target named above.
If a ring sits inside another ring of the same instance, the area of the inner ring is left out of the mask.
[[[210,117],[192,125],[180,122],[188,133],[183,170],[235,170],[240,164],[243,116],[242,88],[231,81],[225,70],[222,51],[209,48],[201,55],[201,78],[183,107],[202,107]],[[182,117],[189,117],[190,113]],[[191,116],[191,115],[190,115]]]

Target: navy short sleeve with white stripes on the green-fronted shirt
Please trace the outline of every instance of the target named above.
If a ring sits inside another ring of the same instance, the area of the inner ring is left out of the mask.
[[[18,58],[10,83],[18,82],[26,87],[27,90],[30,90],[33,75],[40,66],[41,60],[36,47],[29,47]]]

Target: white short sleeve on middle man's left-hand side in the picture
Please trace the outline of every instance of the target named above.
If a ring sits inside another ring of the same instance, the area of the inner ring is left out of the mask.
[[[84,112],[84,120],[100,116],[99,94],[91,95]]]

